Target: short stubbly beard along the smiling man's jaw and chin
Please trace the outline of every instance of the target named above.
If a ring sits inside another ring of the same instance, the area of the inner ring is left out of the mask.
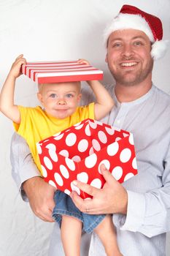
[[[123,76],[121,72],[112,70],[112,68],[109,66],[109,63],[108,67],[113,78],[115,78],[116,83],[119,83],[122,86],[136,86],[137,84],[142,83],[142,81],[144,81],[147,78],[147,76],[152,72],[153,60],[150,59],[145,69],[137,70],[136,74],[134,75],[134,78],[132,78],[131,71],[129,71],[129,79],[128,71],[126,72],[125,76]]]

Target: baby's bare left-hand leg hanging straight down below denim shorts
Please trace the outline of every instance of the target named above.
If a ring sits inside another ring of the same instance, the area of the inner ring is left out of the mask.
[[[65,256],[80,256],[82,222],[71,216],[63,215],[61,221],[61,240]]]

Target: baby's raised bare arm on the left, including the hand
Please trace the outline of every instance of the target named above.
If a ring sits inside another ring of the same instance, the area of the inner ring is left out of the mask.
[[[26,59],[23,58],[23,54],[18,56],[12,64],[0,95],[1,112],[17,124],[20,124],[20,111],[18,110],[18,105],[14,104],[14,91],[15,80],[21,75],[20,67],[22,64],[26,64]]]

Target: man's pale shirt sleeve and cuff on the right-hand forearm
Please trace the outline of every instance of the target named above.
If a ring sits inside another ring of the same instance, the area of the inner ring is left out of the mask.
[[[147,193],[128,190],[127,215],[115,214],[113,221],[120,230],[158,236],[170,231],[170,150],[162,176],[163,186]]]

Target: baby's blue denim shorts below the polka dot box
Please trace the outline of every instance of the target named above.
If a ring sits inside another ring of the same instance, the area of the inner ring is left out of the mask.
[[[93,232],[93,229],[104,219],[106,215],[91,215],[82,213],[73,203],[72,198],[64,192],[57,190],[54,195],[55,208],[53,219],[61,226],[62,215],[68,215],[80,219],[83,223],[82,230],[86,233]]]

